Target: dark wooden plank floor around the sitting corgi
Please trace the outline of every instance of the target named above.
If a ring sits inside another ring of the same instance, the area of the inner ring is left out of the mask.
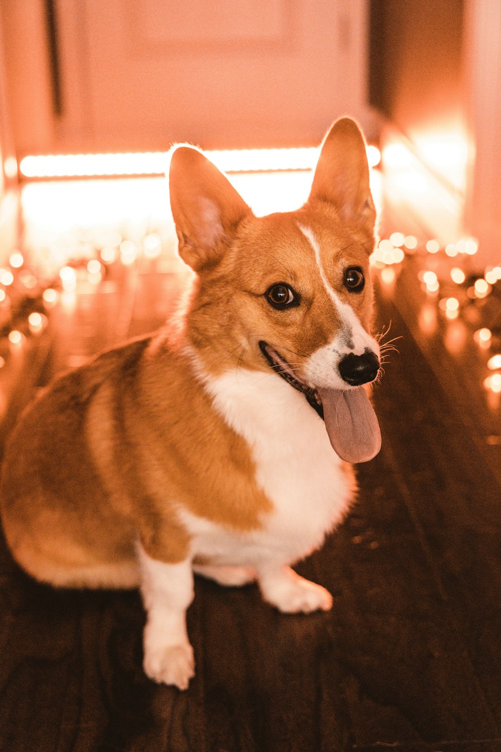
[[[377,295],[379,328],[402,337],[374,394],[381,453],[359,468],[346,522],[297,567],[333,610],[284,616],[255,586],[197,579],[197,675],[180,693],[143,675],[137,593],[56,592],[2,545],[0,750],[501,750],[501,418],[475,345],[451,353],[445,323],[420,326],[415,264]],[[50,358],[33,353],[30,372],[46,380],[156,326],[176,280],[145,271],[56,311]],[[14,406],[28,372],[23,384]]]

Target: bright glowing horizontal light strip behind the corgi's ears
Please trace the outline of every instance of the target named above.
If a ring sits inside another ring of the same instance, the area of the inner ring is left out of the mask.
[[[296,149],[242,149],[206,151],[225,172],[275,172],[310,170],[315,166],[317,147]],[[20,162],[23,177],[110,177],[112,175],[161,175],[168,170],[170,152],[155,151],[122,154],[48,154],[25,156]],[[375,146],[367,147],[371,167],[381,155]]]

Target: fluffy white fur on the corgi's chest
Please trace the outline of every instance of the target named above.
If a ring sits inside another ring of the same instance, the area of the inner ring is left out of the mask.
[[[320,546],[352,496],[323,421],[278,375],[238,369],[210,379],[216,410],[252,448],[256,480],[273,502],[262,529],[243,535],[180,511],[195,555],[213,563],[291,563]]]

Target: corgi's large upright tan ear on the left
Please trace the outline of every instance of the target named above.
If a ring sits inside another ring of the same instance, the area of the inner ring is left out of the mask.
[[[172,153],[169,188],[180,256],[201,271],[219,261],[231,235],[252,211],[216,165],[192,147],[177,147]]]

